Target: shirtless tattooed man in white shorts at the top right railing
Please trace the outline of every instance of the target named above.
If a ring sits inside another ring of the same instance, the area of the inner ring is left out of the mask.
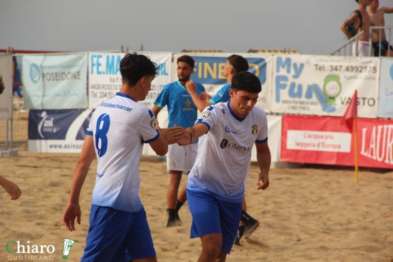
[[[362,17],[359,17],[358,12],[354,11],[350,14],[350,16],[341,24],[340,28],[345,36],[350,39],[354,35],[351,35],[351,32],[348,30],[350,26],[354,26],[356,30],[356,34],[364,31],[364,34],[359,36],[358,40],[358,50],[355,51],[355,45],[353,46],[353,55],[354,56],[368,56],[369,44],[368,39],[370,36],[370,25],[371,20],[367,13],[367,5],[371,3],[372,0],[356,0],[359,3],[359,12]]]

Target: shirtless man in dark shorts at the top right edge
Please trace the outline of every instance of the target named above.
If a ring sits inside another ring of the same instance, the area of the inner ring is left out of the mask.
[[[379,7],[379,0],[371,1],[368,10],[371,24],[375,26],[385,26],[385,13],[393,13],[393,7]],[[381,36],[379,34],[381,34]],[[386,40],[385,29],[375,29],[372,31],[372,47],[374,48],[374,56],[393,56],[393,52],[389,51],[389,49],[393,51],[393,48]]]

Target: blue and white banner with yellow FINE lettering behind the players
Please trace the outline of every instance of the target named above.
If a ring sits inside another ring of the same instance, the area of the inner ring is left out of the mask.
[[[224,66],[226,58],[232,53],[175,53],[173,56],[173,81],[177,80],[176,60],[181,55],[190,55],[195,60],[194,74],[191,79],[201,83],[211,96],[217,94],[226,79]],[[271,76],[273,56],[271,54],[238,53],[249,62],[249,71],[255,74],[262,84],[262,92],[259,93],[256,106],[270,112],[271,105]]]

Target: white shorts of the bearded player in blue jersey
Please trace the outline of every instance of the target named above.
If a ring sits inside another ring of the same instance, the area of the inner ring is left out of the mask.
[[[167,169],[173,171],[182,171],[188,174],[197,159],[198,143],[179,146],[172,144],[168,146]]]

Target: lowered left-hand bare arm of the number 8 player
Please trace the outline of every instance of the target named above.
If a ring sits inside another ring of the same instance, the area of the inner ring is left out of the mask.
[[[69,231],[75,231],[75,218],[81,224],[81,207],[79,206],[79,195],[87,175],[91,162],[95,157],[94,141],[92,135],[86,135],[81,155],[75,166],[72,177],[70,196],[63,214],[63,224]]]

